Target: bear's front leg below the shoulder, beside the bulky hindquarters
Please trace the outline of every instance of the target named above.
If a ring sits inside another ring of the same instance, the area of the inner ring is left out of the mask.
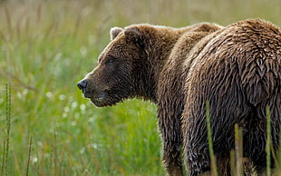
[[[172,79],[170,76],[176,71],[178,70],[171,69],[171,73],[163,73],[158,90],[158,119],[163,144],[162,160],[170,176],[183,175],[181,114],[184,108],[184,94],[181,91],[180,75],[175,76],[177,79]]]

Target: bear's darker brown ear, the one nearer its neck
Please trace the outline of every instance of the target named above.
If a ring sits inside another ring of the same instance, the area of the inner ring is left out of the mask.
[[[137,27],[130,27],[125,29],[124,34],[128,41],[132,42],[133,44],[143,46],[143,34],[141,34],[140,29],[138,29]]]

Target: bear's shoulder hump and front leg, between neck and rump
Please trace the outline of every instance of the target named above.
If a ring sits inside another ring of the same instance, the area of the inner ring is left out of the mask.
[[[170,175],[182,175],[180,150],[182,134],[180,117],[184,108],[184,83],[189,68],[183,68],[187,54],[206,35],[221,27],[217,24],[195,24],[174,45],[160,73],[158,86],[159,128],[163,140],[163,161]],[[187,70],[186,70],[187,68]],[[183,72],[183,71],[187,72]]]

